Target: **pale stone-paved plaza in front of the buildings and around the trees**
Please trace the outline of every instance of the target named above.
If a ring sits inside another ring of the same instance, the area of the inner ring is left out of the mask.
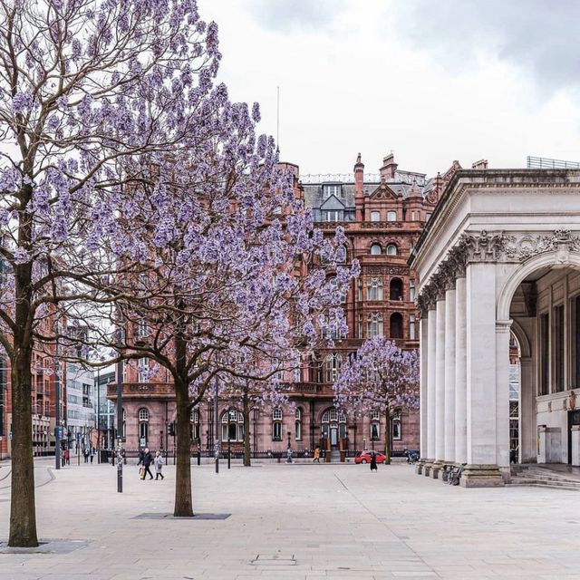
[[[140,481],[126,466],[118,494],[110,465],[36,465],[40,538],[81,541],[66,553],[0,554],[3,579],[580,579],[575,491],[452,488],[406,464],[377,474],[352,464],[222,464],[219,475],[204,465],[193,467],[197,512],[231,515],[175,520],[140,517],[171,511],[173,466],[164,481]]]

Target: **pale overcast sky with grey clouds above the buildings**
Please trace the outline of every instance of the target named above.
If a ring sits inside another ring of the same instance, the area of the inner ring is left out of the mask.
[[[199,0],[221,80],[301,173],[580,161],[576,0]]]

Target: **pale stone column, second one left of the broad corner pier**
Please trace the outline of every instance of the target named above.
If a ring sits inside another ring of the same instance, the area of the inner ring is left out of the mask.
[[[455,459],[455,278],[449,275],[445,291],[445,462]]]

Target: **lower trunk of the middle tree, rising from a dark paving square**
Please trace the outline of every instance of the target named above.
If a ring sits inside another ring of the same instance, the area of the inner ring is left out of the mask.
[[[175,399],[177,404],[177,467],[175,472],[175,517],[193,516],[191,499],[191,458],[189,453],[189,387],[184,381],[176,381]]]

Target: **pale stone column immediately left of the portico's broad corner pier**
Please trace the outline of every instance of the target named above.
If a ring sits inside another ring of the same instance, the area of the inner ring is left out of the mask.
[[[468,460],[467,351],[465,271],[455,286],[455,461]]]

